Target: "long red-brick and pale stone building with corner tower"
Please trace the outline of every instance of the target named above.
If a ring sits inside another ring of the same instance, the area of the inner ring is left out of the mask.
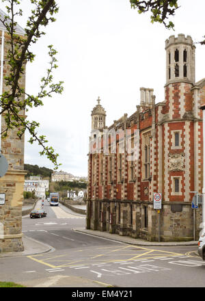
[[[202,210],[191,208],[191,192],[202,193],[200,105],[205,103],[205,79],[195,83],[191,36],[170,36],[165,51],[165,101],[156,103],[153,89],[140,88],[137,110],[110,127],[100,99],[92,111],[87,228],[150,241],[192,240],[199,235]],[[139,157],[128,160],[123,142],[130,141],[134,149],[135,133]],[[162,194],[160,212],[153,208],[155,192]]]

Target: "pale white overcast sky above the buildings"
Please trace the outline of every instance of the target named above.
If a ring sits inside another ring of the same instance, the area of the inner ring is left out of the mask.
[[[18,24],[25,27],[29,0]],[[37,94],[39,80],[48,68],[47,46],[58,51],[55,81],[64,81],[64,92],[31,109],[27,118],[40,122],[39,133],[59,153],[61,170],[87,176],[91,111],[100,96],[107,125],[139,105],[139,88],[153,88],[156,103],[164,101],[165,40],[173,34],[190,35],[199,42],[205,35],[205,1],[180,0],[172,18],[175,31],[150,23],[150,14],[131,9],[129,0],[57,0],[57,21],[33,47],[36,60],[27,64],[27,92]],[[195,6],[193,6],[193,3]],[[1,8],[5,11],[3,3]],[[205,46],[196,44],[196,81],[205,77]],[[29,136],[26,135],[26,141]],[[53,169],[39,155],[38,144],[25,142],[25,163]]]

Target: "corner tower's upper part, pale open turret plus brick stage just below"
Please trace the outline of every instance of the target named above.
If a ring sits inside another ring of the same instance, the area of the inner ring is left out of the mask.
[[[192,116],[191,88],[195,85],[195,46],[191,36],[178,34],[165,41],[166,83],[165,99],[169,119]]]

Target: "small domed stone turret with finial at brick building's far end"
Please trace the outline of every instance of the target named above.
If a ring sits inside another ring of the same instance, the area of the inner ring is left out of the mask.
[[[100,97],[98,97],[97,100],[98,104],[94,107],[92,110],[92,131],[95,129],[98,129],[99,131],[102,131],[105,129],[105,118],[106,118],[106,112],[105,109],[100,105]]]

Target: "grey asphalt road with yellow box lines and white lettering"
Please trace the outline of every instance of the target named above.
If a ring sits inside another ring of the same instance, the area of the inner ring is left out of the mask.
[[[85,216],[45,202],[46,218],[23,218],[23,233],[52,252],[0,258],[0,280],[27,287],[204,287],[196,246],[142,247],[74,231]],[[72,279],[72,281],[71,281]],[[89,280],[89,281],[88,281]]]

